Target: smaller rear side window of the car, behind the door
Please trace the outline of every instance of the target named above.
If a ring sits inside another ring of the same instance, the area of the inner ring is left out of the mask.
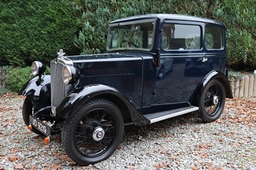
[[[223,49],[222,32],[218,27],[205,27],[205,47],[207,50]]]

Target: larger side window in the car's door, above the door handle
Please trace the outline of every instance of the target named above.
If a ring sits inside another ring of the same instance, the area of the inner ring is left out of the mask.
[[[165,50],[200,50],[201,27],[184,24],[164,24],[162,45]]]

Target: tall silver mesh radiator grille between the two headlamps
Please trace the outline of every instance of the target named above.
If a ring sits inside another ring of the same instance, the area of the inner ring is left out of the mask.
[[[65,65],[56,61],[51,62],[51,102],[56,108],[66,95],[66,85],[62,79],[62,70]]]

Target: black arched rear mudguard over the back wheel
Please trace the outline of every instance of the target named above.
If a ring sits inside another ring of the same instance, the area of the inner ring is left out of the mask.
[[[232,89],[230,87],[227,76],[218,70],[213,70],[212,72],[208,73],[205,76],[204,80],[200,83],[198,88],[194,91],[192,97],[189,100],[189,103],[191,103],[192,105],[196,105],[196,106],[199,105],[202,91],[203,91],[204,87],[206,86],[206,84],[209,81],[211,81],[212,79],[217,79],[218,81],[220,81],[223,84],[227,98],[233,98]]]

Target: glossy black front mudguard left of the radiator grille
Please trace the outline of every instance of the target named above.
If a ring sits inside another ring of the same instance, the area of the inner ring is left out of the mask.
[[[51,75],[45,75],[42,79],[34,77],[20,89],[19,95],[24,95],[32,103],[34,112],[40,111],[40,114],[50,114],[51,106]],[[45,108],[45,113],[42,108]]]

